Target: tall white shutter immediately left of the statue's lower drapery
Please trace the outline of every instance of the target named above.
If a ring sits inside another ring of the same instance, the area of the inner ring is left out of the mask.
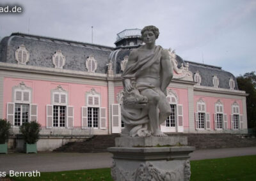
[[[120,105],[112,104],[112,133],[120,133],[121,131],[121,115],[120,115]]]

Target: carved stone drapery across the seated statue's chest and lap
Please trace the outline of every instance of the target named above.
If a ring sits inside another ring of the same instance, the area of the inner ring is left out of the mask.
[[[127,67],[124,70],[124,73],[122,74],[123,80],[125,79],[132,79],[136,78],[138,73],[142,71],[143,69],[149,68],[156,62],[157,60],[161,59],[161,52],[163,48],[160,46],[156,46],[154,52],[152,54],[147,54],[145,57],[140,57],[136,62],[127,64]],[[150,75],[148,75],[150,76]],[[160,77],[161,78],[161,77]],[[161,80],[159,80],[161,81]],[[125,85],[124,85],[125,86]],[[145,90],[145,89],[152,89],[153,91],[157,92],[157,94],[163,95],[163,92],[159,89],[159,87],[154,87],[150,82],[143,82],[143,83],[137,83],[135,90],[138,94],[139,92]],[[127,92],[124,94],[127,96]],[[138,96],[138,95],[137,95]],[[141,95],[139,95],[141,96]],[[134,97],[134,96],[133,96]],[[133,98],[132,97],[132,98]],[[162,99],[160,101],[166,101],[166,98],[161,96]],[[122,121],[125,123],[125,129],[122,131],[123,135],[125,136],[150,136],[150,124],[149,123],[149,117],[148,117],[148,108],[145,106],[144,108],[136,108],[136,96],[134,98],[134,106],[125,106],[125,104],[122,104],[121,106],[121,113],[122,113]],[[167,101],[164,103],[165,105],[168,105]],[[161,112],[161,110],[160,110]]]

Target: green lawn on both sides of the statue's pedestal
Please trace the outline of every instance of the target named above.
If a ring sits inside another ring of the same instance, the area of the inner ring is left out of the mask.
[[[191,180],[256,180],[256,155],[191,161]],[[112,180],[110,168],[44,172],[41,177],[20,177],[13,180]]]

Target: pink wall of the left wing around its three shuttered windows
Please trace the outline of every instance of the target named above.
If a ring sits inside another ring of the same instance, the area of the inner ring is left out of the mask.
[[[51,91],[58,85],[68,92],[68,106],[74,106],[74,127],[81,126],[81,107],[86,106],[86,92],[92,88],[100,94],[100,106],[107,109],[106,127],[108,127],[108,87],[83,85],[78,83],[51,82],[43,80],[26,80],[20,78],[4,78],[3,112],[6,115],[6,105],[12,102],[12,88],[24,82],[31,87],[31,103],[38,105],[38,123],[46,127],[46,105],[51,105]]]

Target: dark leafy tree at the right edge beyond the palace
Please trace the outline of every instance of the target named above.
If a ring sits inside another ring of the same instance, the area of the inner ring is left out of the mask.
[[[245,91],[248,128],[256,129],[256,75],[255,71],[244,73],[244,75],[237,76],[238,89]]]

